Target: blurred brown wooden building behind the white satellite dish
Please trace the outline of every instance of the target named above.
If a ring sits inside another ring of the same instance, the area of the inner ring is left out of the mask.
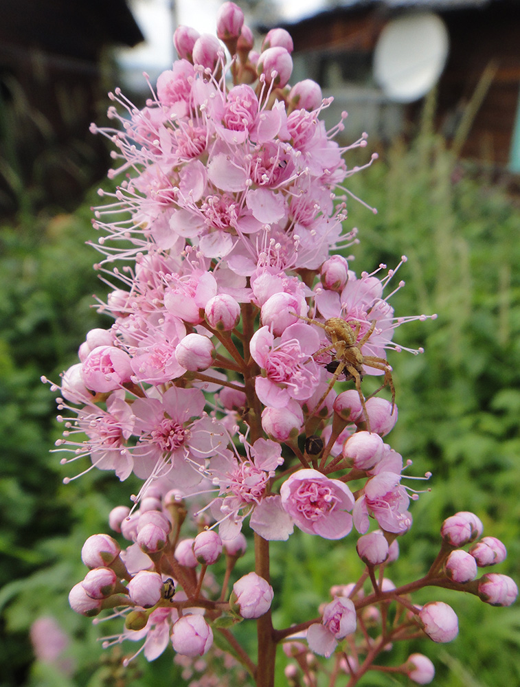
[[[448,138],[454,135],[487,69],[490,83],[482,89],[462,154],[520,172],[518,0],[351,0],[286,25],[295,44],[295,76],[305,72],[326,95],[335,95],[330,121],[346,109],[353,114],[354,135],[357,128],[383,139],[403,131],[418,106],[385,98],[373,78],[374,49],[389,21],[425,10],[438,14],[449,33],[449,56],[438,82],[438,126]]]

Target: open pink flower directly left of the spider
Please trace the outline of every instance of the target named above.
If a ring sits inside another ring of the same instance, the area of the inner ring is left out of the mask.
[[[291,398],[309,398],[319,383],[319,370],[312,354],[319,348],[317,332],[306,324],[286,328],[275,339],[268,327],[260,328],[250,343],[251,356],[264,370],[255,388],[264,405],[284,408]]]

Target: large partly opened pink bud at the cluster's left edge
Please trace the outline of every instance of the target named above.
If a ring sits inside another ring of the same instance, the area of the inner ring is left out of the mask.
[[[115,346],[98,346],[82,363],[81,376],[87,389],[106,393],[119,389],[133,374],[131,357]]]

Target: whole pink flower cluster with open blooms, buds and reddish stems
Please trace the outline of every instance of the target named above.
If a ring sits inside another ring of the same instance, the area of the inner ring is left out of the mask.
[[[359,642],[355,654],[346,646],[356,645],[349,637],[359,618],[365,638],[367,624],[383,622],[383,602],[409,614],[396,640],[456,634],[454,611],[440,602],[412,607],[413,589],[383,576],[418,497],[404,484],[411,461],[383,440],[398,416],[386,355],[401,348],[393,340],[400,324],[427,316],[395,317],[389,304],[387,285],[406,258],[357,275],[336,254],[355,243],[355,232],[342,232],[345,184],[359,168],[349,169],[345,156],[364,148],[366,135],[341,148],[334,135],[344,117],[326,130],[319,115],[330,101],[319,86],[289,85],[286,31],[269,32],[259,55],[241,10],[227,2],[217,36],[179,27],[179,60],[146,105],[115,91],[123,110],[113,106],[109,117],[119,128],[92,126],[116,148],[110,176],[129,172],[114,193],[100,192],[107,202],[95,211],[103,233],[97,268],[113,286],[100,310],[113,324],[87,334],[79,362],[53,387],[64,425],[57,445],[69,453],[63,463],[87,460],[85,471],[134,475],[142,487],[133,508],[117,506],[110,516],[126,548],[105,534],[90,537],[82,550],[90,570],[69,601],[86,616],[120,609],[125,630],[106,645],[143,641],[148,660],[168,644],[201,656],[212,646],[212,624],[225,635],[234,622],[257,618],[260,656],[273,657],[276,642],[299,632],[316,655],[341,644],[341,670],[361,677],[361,654],[375,644]],[[365,398],[366,375],[382,376],[392,398]],[[338,391],[340,383],[352,387]],[[245,524],[256,536],[256,572],[229,593]],[[361,536],[356,543],[350,535],[352,552],[366,570],[359,583],[335,590],[319,618],[275,631],[266,547],[295,527],[325,539],[354,530]],[[509,578],[475,580],[477,566],[505,557],[493,537],[462,549],[481,534],[472,514],[448,519],[422,586],[512,602]],[[379,650],[389,642],[384,634]],[[245,652],[242,662],[268,684],[262,662],[253,665]],[[396,670],[418,684],[433,678],[419,654]]]

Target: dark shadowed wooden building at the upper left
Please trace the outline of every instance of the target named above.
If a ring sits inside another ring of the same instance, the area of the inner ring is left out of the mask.
[[[107,54],[142,33],[126,0],[0,0],[0,12],[0,211],[74,207],[107,166],[89,133]]]

